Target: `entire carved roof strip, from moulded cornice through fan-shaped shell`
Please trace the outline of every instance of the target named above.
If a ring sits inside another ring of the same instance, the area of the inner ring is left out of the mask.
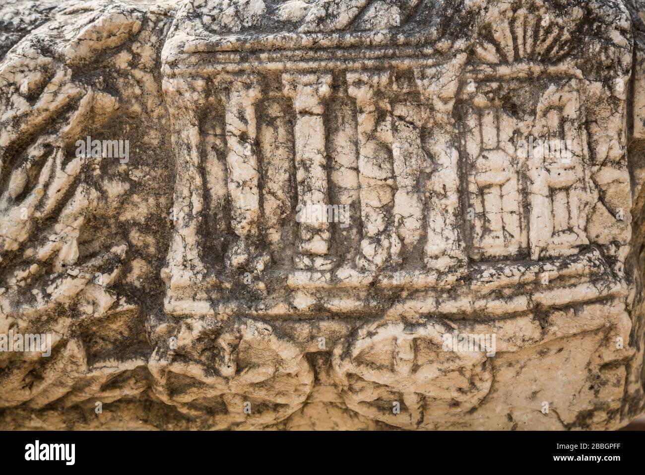
[[[523,63],[533,72],[517,76],[560,68],[622,77],[631,67],[630,16],[613,0],[190,0],[163,61],[168,74],[342,69],[433,65],[462,51],[484,74]]]

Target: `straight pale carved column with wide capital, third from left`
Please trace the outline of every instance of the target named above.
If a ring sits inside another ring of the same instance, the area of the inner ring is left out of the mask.
[[[322,258],[329,253],[332,237],[327,216],[324,103],[332,90],[332,75],[285,73],[283,85],[296,112],[295,167],[300,216],[304,217],[300,223],[301,255],[295,264],[329,268],[332,260]]]

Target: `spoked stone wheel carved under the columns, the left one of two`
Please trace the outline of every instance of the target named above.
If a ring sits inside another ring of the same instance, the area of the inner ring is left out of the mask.
[[[188,319],[148,361],[154,394],[203,428],[251,429],[298,410],[313,370],[293,343],[263,322]]]

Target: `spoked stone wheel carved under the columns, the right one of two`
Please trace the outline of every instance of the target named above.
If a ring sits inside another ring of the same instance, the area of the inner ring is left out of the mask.
[[[458,351],[452,331],[439,321],[362,326],[333,350],[343,401],[359,414],[408,429],[432,428],[477,406],[493,382],[492,363],[479,343]],[[425,417],[430,412],[435,417]]]

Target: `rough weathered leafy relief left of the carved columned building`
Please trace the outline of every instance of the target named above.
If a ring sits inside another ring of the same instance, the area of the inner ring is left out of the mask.
[[[126,6],[64,13],[0,63],[0,408],[64,410],[148,386],[141,309],[114,289],[128,243],[109,231],[88,239],[97,221],[114,226],[108,210],[126,187],[120,176],[101,176],[100,154],[70,154],[120,108],[104,69],[91,79],[77,70],[99,56],[109,63],[142,19]],[[114,35],[99,26],[112,21]],[[119,348],[115,327],[130,350]]]

